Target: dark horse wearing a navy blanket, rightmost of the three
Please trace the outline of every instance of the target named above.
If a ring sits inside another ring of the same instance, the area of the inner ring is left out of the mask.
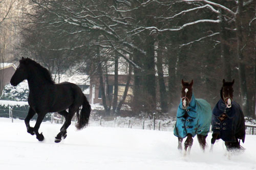
[[[216,139],[225,141],[227,151],[243,149],[240,140],[245,140],[244,114],[240,105],[233,100],[233,84],[223,79],[221,88],[221,99],[212,110],[212,138],[211,151]]]

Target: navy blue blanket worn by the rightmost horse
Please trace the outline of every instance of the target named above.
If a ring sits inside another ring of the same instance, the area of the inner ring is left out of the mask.
[[[221,117],[226,116],[221,121]],[[237,139],[245,140],[244,114],[240,105],[232,102],[232,107],[227,108],[221,99],[212,110],[211,130],[213,134],[219,134],[220,138],[228,142],[236,142]]]

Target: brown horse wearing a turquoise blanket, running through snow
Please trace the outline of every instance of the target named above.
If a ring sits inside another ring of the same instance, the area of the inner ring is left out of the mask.
[[[193,94],[193,80],[188,83],[182,80],[181,102],[177,110],[177,122],[174,135],[178,137],[178,149],[182,150],[183,138],[185,153],[191,150],[193,137],[197,135],[200,147],[205,150],[206,137],[210,129],[211,107],[203,99],[195,99]]]

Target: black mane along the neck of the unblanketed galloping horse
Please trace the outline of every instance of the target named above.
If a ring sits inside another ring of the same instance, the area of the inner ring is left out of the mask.
[[[54,81],[52,80],[52,76],[50,74],[50,71],[46,69],[45,67],[41,66],[39,63],[35,62],[34,60],[31,60],[29,58],[23,58],[22,60],[19,61],[20,63],[23,63],[25,65],[31,64],[35,66],[42,75],[49,83],[55,84]]]

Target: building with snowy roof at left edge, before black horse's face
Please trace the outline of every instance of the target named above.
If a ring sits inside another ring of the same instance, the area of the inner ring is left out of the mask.
[[[0,63],[0,95],[2,94],[5,85],[10,83],[16,68],[17,67],[13,63]]]

